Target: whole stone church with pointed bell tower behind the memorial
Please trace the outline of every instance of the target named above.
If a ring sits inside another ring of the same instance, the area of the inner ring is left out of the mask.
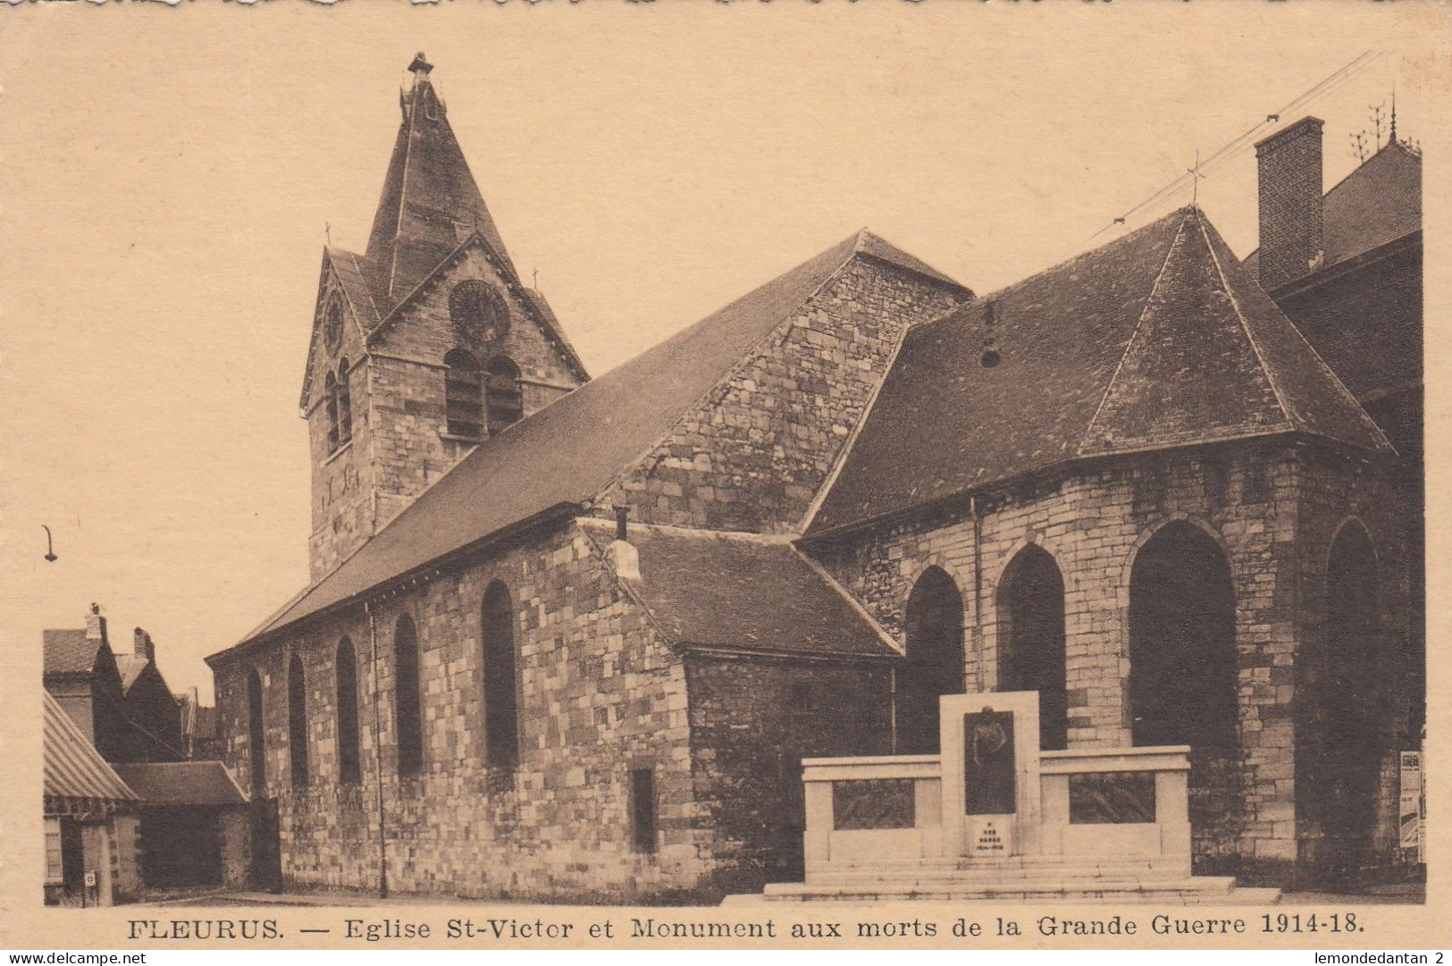
[[[937,752],[964,690],[1037,690],[1044,748],[1189,744],[1199,870],[1401,861],[1420,446],[1368,411],[1420,443],[1420,177],[1390,395],[1195,206],[986,296],[861,231],[591,378],[411,71],[367,250],[322,256],[311,581],[208,658],[261,880],[759,890],[804,757]]]

